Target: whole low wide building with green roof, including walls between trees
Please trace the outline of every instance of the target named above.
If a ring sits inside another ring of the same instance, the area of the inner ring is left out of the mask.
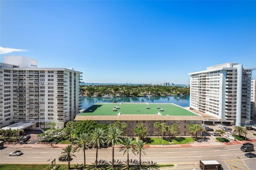
[[[188,136],[188,123],[202,124],[202,116],[172,103],[94,103],[81,113],[74,121],[93,120],[102,124],[116,121],[127,123],[124,130],[127,136],[136,136],[134,128],[143,123],[148,128],[148,136],[157,136],[155,122],[179,125],[178,135]],[[168,134],[168,132],[166,132]]]

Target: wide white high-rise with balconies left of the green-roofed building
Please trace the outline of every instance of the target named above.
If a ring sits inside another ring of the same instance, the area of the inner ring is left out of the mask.
[[[79,82],[82,72],[67,68],[36,68],[19,56],[0,63],[0,127],[12,122],[54,122],[57,128],[73,121],[82,106]],[[14,65],[16,63],[18,65]],[[19,64],[20,63],[20,64]],[[35,65],[36,64],[36,65]]]

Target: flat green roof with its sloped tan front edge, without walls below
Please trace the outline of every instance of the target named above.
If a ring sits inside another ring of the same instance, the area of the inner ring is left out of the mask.
[[[94,103],[75,118],[75,121],[82,120],[202,121],[202,116],[173,103]]]

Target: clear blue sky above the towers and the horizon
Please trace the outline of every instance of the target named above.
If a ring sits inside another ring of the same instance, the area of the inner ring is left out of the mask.
[[[208,66],[256,67],[256,1],[1,0],[0,46],[17,49],[1,62],[31,57],[88,83],[189,84]]]

